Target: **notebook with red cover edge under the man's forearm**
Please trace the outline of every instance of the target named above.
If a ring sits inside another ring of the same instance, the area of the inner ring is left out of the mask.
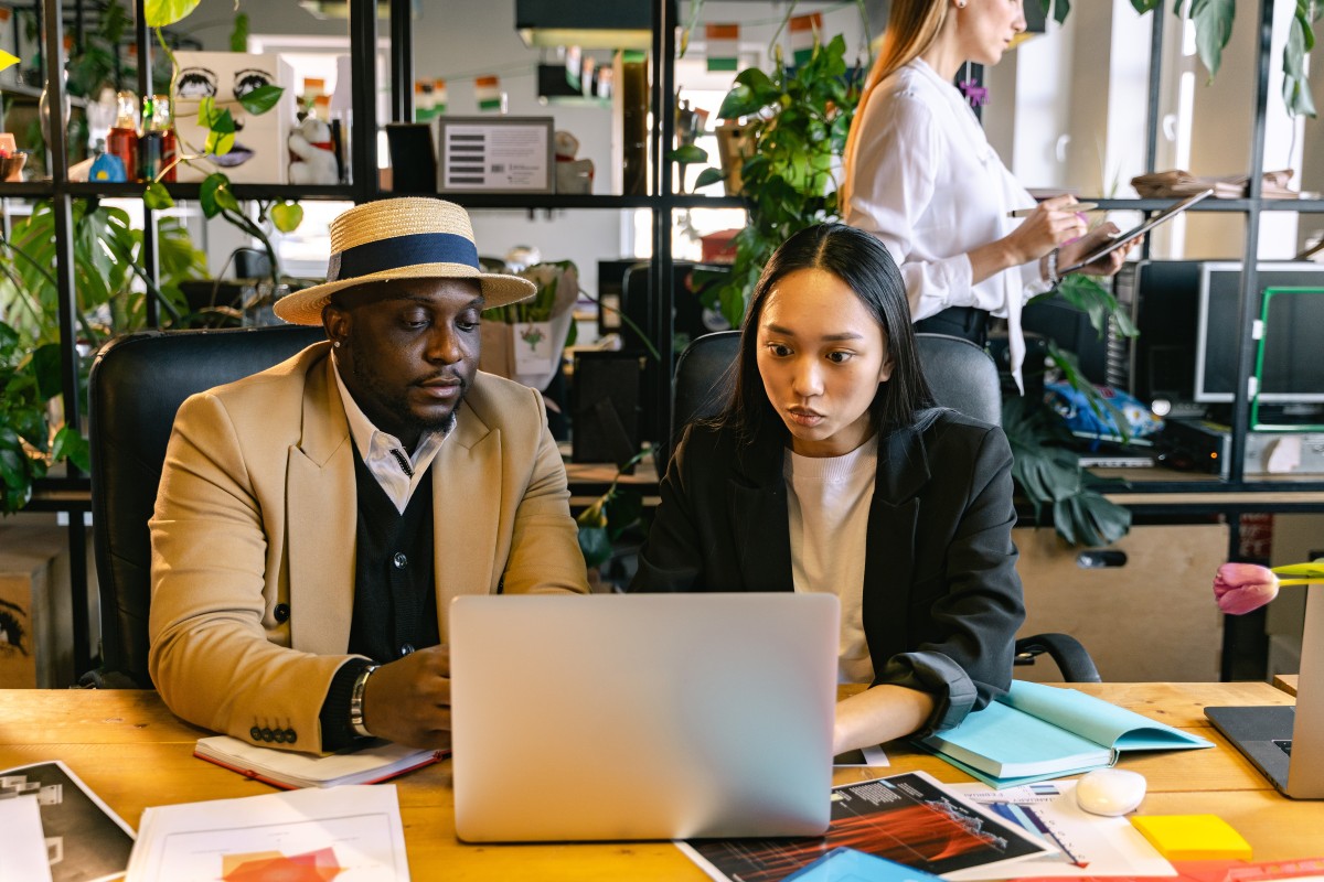
[[[229,735],[199,738],[193,755],[273,787],[338,787],[376,784],[450,755],[450,750],[418,750],[373,741],[335,754],[305,754],[258,747]]]

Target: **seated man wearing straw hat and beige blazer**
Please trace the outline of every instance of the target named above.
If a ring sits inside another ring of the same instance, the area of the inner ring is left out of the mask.
[[[176,714],[289,750],[441,746],[451,598],[588,590],[542,397],[477,370],[479,312],[532,294],[479,271],[458,205],[332,221],[326,284],[275,305],[328,340],[175,418],[150,669]]]

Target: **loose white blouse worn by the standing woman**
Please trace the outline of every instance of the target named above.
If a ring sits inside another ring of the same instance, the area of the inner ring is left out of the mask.
[[[988,143],[960,90],[916,58],[880,82],[862,111],[846,223],[876,235],[906,279],[914,320],[948,307],[978,307],[1006,317],[1017,381],[1025,357],[1021,307],[1047,284],[1039,262],[972,282],[968,253],[1001,239],[1033,208]]]

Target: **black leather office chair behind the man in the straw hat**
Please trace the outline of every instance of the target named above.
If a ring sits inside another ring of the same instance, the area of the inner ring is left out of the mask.
[[[147,610],[156,501],[175,411],[193,393],[279,364],[326,339],[318,327],[144,331],[109,342],[91,368],[93,545],[101,583],[95,686],[151,688]]]

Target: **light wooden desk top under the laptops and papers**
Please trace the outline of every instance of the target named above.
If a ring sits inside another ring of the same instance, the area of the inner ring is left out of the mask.
[[[1324,801],[1280,796],[1205,721],[1205,705],[1291,703],[1264,682],[1083,684],[1155,719],[1214,741],[1213,750],[1140,754],[1121,764],[1149,780],[1147,813],[1215,813],[1241,830],[1256,860],[1324,854]],[[273,788],[195,759],[201,730],[177,721],[152,692],[0,690],[0,768],[62,759],[111,808],[138,826],[148,805],[256,796]],[[904,743],[887,746],[887,770],[842,768],[837,783],[924,770],[968,782]],[[450,763],[396,780],[414,879],[565,879],[700,882],[707,878],[669,842],[465,845],[454,836]]]

